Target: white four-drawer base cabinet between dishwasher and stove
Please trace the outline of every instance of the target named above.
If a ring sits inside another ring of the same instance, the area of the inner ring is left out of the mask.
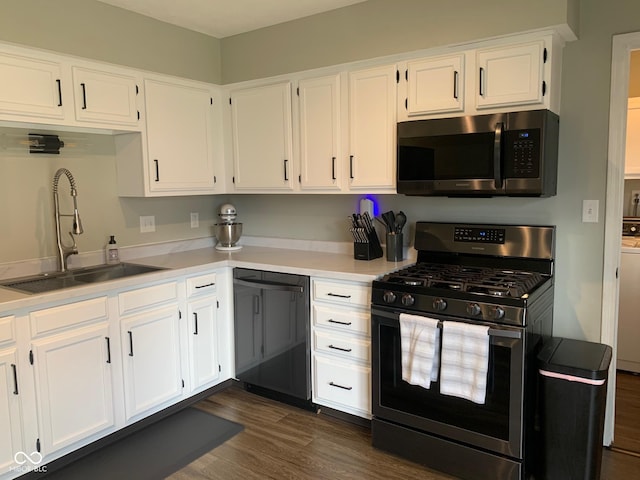
[[[368,283],[312,279],[313,401],[371,418]]]

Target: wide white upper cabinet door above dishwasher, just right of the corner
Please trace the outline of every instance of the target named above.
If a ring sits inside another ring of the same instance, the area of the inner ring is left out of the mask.
[[[231,93],[236,190],[291,190],[291,84]]]

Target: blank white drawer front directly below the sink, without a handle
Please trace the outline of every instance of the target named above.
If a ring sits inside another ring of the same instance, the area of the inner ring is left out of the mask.
[[[45,335],[55,330],[108,319],[107,297],[92,298],[58,307],[31,312],[31,335]]]

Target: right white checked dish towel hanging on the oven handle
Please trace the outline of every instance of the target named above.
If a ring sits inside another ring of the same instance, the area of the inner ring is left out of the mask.
[[[483,405],[489,368],[489,327],[442,323],[440,393]]]

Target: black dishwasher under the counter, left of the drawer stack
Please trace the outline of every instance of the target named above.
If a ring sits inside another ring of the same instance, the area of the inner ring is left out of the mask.
[[[311,408],[309,277],[235,268],[233,292],[236,378]]]

